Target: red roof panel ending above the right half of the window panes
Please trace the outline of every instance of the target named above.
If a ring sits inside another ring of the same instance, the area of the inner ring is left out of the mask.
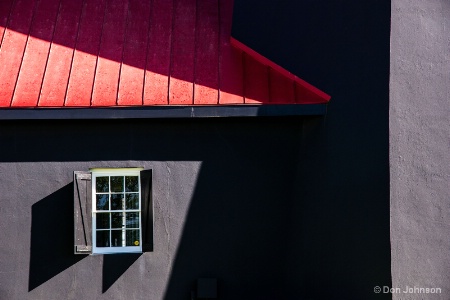
[[[118,105],[142,104],[150,6],[150,1],[130,0],[129,3]]]

